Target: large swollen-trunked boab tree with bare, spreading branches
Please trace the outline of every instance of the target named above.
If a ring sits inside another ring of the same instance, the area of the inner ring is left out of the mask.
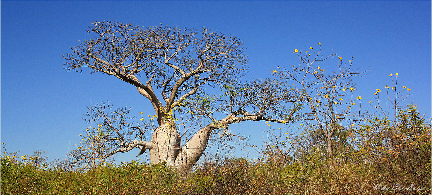
[[[282,102],[291,97],[284,83],[276,80],[236,82],[246,71],[247,59],[243,54],[243,41],[234,36],[207,28],[197,32],[168,26],[139,28],[118,22],[94,22],[87,32],[94,34],[94,39],[72,47],[72,53],[64,56],[65,68],[82,72],[82,68],[87,67],[90,73],[102,72],[132,84],[152,104],[157,127],[151,130],[151,139],[145,141],[142,135],[148,129],[126,122],[128,108],[109,114],[105,112],[109,105],[99,105],[92,111],[102,120],[101,127],[106,126],[112,132],[103,139],[117,149],[110,148],[111,152],[104,155],[82,152],[77,159],[103,159],[138,147],[139,154],[149,149],[152,163],[166,161],[170,167],[189,169],[203,154],[216,129],[226,129],[229,124],[246,120],[279,123],[289,120]],[[204,93],[205,86],[225,86],[229,90],[214,101],[219,102],[215,110],[206,107],[209,105],[204,102],[208,101],[202,101],[208,97]],[[181,135],[173,117],[182,106],[195,109],[197,117],[212,120],[184,144],[180,143]],[[226,115],[221,119],[212,117],[217,111]],[[135,139],[131,139],[132,135]]]

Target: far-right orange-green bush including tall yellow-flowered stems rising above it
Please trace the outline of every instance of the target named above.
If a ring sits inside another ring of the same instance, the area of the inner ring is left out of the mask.
[[[431,186],[431,124],[413,102],[403,103],[410,88],[400,87],[399,74],[389,74],[391,85],[376,89],[376,112],[364,120],[356,141],[366,171],[376,180],[400,186],[419,186],[419,194]],[[381,93],[384,99],[381,99]],[[372,104],[372,101],[369,101]],[[385,105],[385,106],[383,106]],[[390,109],[389,109],[390,108]],[[412,193],[407,188],[401,193]]]

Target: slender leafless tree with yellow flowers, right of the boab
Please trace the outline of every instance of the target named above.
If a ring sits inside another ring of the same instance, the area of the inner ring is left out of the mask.
[[[355,87],[352,77],[362,76],[365,71],[353,68],[353,59],[347,64],[343,63],[341,56],[337,57],[337,64],[332,65],[336,68],[317,64],[337,56],[333,52],[328,56],[321,55],[321,43],[318,45],[319,50],[310,47],[309,53],[295,49],[294,53],[299,56],[300,64],[289,69],[278,67],[278,71],[273,71],[273,74],[283,80],[295,82],[298,102],[310,108],[304,109],[301,113],[300,125],[302,128],[319,129],[324,133],[327,158],[333,164],[334,133],[338,132],[338,128],[350,129],[350,136],[353,139],[355,128],[364,117],[361,112],[362,97],[353,96]],[[327,74],[324,68],[329,69],[331,73]],[[345,152],[341,152],[342,155]]]

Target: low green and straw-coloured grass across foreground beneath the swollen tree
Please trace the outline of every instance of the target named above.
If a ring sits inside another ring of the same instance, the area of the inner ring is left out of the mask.
[[[366,174],[365,167],[344,163],[330,169],[325,163],[282,164],[266,160],[252,163],[244,158],[219,159],[205,161],[189,173],[179,173],[166,164],[131,161],[94,170],[65,172],[49,167],[35,168],[5,156],[1,158],[2,194],[406,193],[391,190],[391,187],[388,191],[376,189],[377,184],[388,185]],[[420,194],[426,190],[410,192]]]

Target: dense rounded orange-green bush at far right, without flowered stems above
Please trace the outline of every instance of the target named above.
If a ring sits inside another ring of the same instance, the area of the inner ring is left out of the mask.
[[[362,126],[358,155],[365,157],[367,173],[391,186],[404,186],[401,193],[419,193],[410,186],[430,189],[431,126],[415,105],[400,110],[396,121],[375,117]]]

